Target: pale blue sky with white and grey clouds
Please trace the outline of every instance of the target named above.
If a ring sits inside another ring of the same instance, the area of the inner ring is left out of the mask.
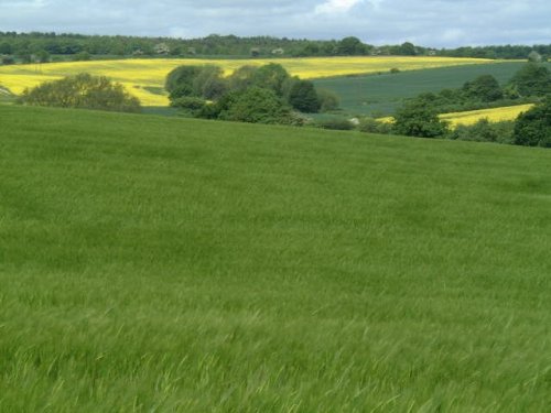
[[[0,31],[198,37],[212,33],[406,41],[435,47],[551,43],[550,0],[0,0]]]

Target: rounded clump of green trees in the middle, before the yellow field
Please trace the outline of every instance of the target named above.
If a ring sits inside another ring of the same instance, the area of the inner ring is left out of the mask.
[[[298,124],[302,117],[295,112],[338,108],[334,94],[274,63],[242,66],[227,77],[217,66],[180,66],[168,75],[165,88],[172,107],[208,119]]]

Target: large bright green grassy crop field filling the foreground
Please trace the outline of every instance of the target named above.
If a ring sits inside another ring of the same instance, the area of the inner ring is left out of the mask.
[[[544,412],[551,151],[0,106],[1,412]]]

